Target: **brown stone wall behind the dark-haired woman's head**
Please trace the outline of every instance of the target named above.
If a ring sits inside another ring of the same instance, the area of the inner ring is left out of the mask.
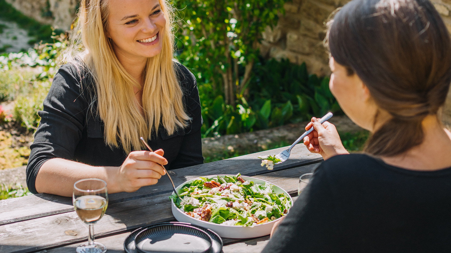
[[[322,41],[326,36],[325,23],[329,15],[350,0],[292,0],[285,4],[274,29],[267,28],[260,47],[263,56],[289,59],[292,63],[307,64],[308,72],[329,75],[328,54]],[[451,31],[451,0],[432,0],[443,21]],[[451,90],[444,108],[443,120],[451,126]]]

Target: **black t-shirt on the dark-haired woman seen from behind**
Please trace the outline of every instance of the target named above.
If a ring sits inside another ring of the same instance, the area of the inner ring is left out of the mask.
[[[323,162],[263,253],[451,252],[451,167],[419,172],[364,154]]]

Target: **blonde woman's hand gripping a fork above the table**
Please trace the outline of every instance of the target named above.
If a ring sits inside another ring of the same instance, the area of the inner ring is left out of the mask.
[[[130,152],[116,174],[116,186],[121,191],[133,192],[146,185],[155,185],[166,173],[161,167],[168,163],[163,154],[163,149]]]

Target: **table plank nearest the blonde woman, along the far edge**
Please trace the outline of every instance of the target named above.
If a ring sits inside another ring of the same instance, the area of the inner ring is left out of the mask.
[[[263,173],[269,173],[271,171],[268,171],[265,167],[260,166],[260,160],[257,156],[278,154],[283,149],[286,149],[286,147],[216,161],[213,163],[180,168],[174,170],[174,172],[177,173],[177,176],[172,176],[172,178],[175,185],[179,185],[198,176],[212,174],[241,173],[245,176],[255,176]],[[273,172],[285,170],[291,167],[298,167],[303,164],[315,163],[322,160],[320,155],[308,152],[303,145],[295,146],[291,152],[292,154],[290,159],[285,163],[276,165]],[[164,176],[158,184],[142,187],[133,193],[123,192],[110,194],[110,204],[170,193],[172,192],[171,189],[172,186],[170,185],[169,179]],[[21,198],[1,200],[0,225],[71,211],[73,211],[71,198],[55,196],[52,194],[35,194]]]

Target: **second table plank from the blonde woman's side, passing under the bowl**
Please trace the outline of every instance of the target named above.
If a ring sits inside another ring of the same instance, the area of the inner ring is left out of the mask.
[[[312,171],[316,164],[270,172],[256,177],[296,192],[299,176]],[[140,226],[173,220],[169,194],[159,194],[111,204],[106,215],[96,224],[96,236],[111,235]],[[25,253],[74,244],[87,239],[87,226],[77,214],[61,213],[0,226],[0,252]]]

